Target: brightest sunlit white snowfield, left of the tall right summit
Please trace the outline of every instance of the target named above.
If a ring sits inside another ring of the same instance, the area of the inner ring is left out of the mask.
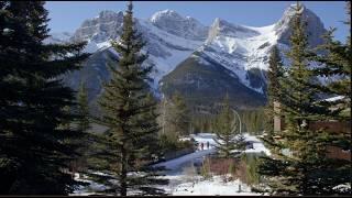
[[[263,87],[251,86],[248,70],[267,70],[267,54],[277,41],[274,26],[233,25],[216,19],[206,44],[198,52],[231,70],[246,87],[263,94]],[[235,33],[229,33],[229,30]]]

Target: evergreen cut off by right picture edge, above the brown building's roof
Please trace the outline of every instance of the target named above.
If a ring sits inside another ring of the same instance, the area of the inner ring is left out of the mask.
[[[351,15],[351,2],[348,2],[348,15]],[[345,22],[350,26],[351,19]],[[345,44],[333,38],[336,29],[331,29],[323,35],[324,44],[317,47],[318,53],[311,53],[310,59],[318,63],[320,66],[315,68],[315,75],[324,77],[330,80],[327,85],[314,84],[311,86],[328,96],[341,96],[342,100],[322,101],[323,105],[334,107],[331,112],[334,119],[348,121],[351,117],[346,113],[351,108],[351,36],[346,37]],[[320,53],[319,53],[320,52]],[[345,113],[343,113],[345,112]]]

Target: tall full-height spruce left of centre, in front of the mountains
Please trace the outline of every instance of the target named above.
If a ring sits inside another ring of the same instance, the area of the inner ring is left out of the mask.
[[[158,179],[153,163],[153,146],[157,131],[156,101],[147,84],[153,65],[142,66],[147,58],[141,52],[145,43],[134,28],[132,2],[123,16],[123,31],[120,41],[112,47],[121,55],[118,65],[110,65],[111,80],[105,85],[99,101],[102,109],[101,122],[109,128],[105,139],[108,150],[101,155],[106,163],[105,172],[114,180],[106,179],[106,191],[127,196],[133,194],[160,195],[164,190],[153,187],[165,184]]]

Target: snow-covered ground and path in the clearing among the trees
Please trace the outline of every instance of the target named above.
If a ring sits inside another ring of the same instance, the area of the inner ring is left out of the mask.
[[[165,166],[168,170],[165,176],[162,178],[169,179],[167,186],[161,186],[168,195],[233,195],[233,196],[260,196],[260,194],[252,193],[251,188],[240,180],[232,180],[224,183],[222,177],[213,176],[210,179],[204,179],[200,175],[189,175],[185,173],[185,168],[194,165],[194,163],[200,163],[204,158],[216,152],[216,138],[212,133],[198,133],[191,134],[189,138],[184,138],[183,140],[195,139],[199,144],[204,143],[204,150],[198,147],[194,153],[166,161],[155,166]],[[245,150],[245,153],[262,153],[270,155],[270,152],[263,143],[255,136],[248,133],[244,134],[245,141],[253,144],[253,148]],[[209,148],[207,147],[207,142],[209,142]],[[89,183],[89,187],[82,187],[76,190],[73,195],[92,195],[94,190],[105,189],[105,186],[88,180],[86,178],[78,178],[78,175],[75,177],[77,180]],[[241,185],[241,191],[239,191],[239,186]]]

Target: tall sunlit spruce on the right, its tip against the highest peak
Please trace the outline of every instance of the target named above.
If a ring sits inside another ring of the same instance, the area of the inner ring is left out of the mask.
[[[264,157],[260,167],[260,173],[270,177],[272,193],[279,195],[321,195],[322,189],[319,168],[326,158],[326,146],[320,138],[326,133],[312,131],[309,124],[328,110],[316,103],[317,89],[309,86],[314,73],[307,58],[309,50],[301,11],[297,3],[292,20],[292,48],[287,53],[290,67],[282,84],[280,110],[286,129],[278,132],[283,141],[272,144],[272,158]],[[284,148],[289,152],[284,154]]]

